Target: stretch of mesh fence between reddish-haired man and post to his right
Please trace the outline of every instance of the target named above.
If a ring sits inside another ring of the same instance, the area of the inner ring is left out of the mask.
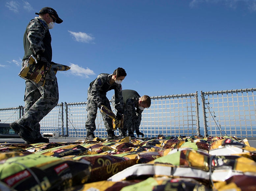
[[[197,93],[151,98],[151,106],[143,111],[140,125],[140,130],[148,137],[200,133]]]

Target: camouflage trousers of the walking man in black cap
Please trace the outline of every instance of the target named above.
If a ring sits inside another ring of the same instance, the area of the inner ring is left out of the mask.
[[[38,86],[35,82],[26,80],[24,95],[24,115],[16,122],[21,126],[28,126],[33,131],[31,135],[39,138],[39,122],[45,117],[59,101],[59,89],[56,75],[51,68],[45,77],[44,86]]]

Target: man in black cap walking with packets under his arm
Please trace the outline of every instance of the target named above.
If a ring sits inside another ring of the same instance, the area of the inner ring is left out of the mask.
[[[37,58],[37,64],[51,63],[52,48],[49,29],[53,28],[55,22],[63,22],[57,12],[50,7],[44,7],[36,14],[39,17],[35,17],[29,22],[24,33],[25,54],[22,66],[32,54]],[[26,80],[25,83],[24,115],[11,123],[10,127],[28,144],[49,142],[48,138],[43,138],[40,134],[39,122],[58,104],[59,90],[56,75],[51,68],[46,74],[43,86],[39,86],[31,80]]]

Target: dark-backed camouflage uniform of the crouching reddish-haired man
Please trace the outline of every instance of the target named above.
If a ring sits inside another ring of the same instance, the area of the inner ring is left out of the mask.
[[[140,95],[134,90],[123,90],[122,95],[124,98],[124,131],[139,130],[141,113],[143,112],[138,108]],[[115,105],[115,97],[113,95],[111,99],[113,106]]]

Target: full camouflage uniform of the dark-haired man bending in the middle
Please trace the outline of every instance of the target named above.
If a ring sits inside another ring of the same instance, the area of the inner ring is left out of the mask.
[[[123,110],[124,102],[122,96],[122,85],[113,83],[110,85],[110,79],[113,74],[100,74],[90,83],[87,97],[87,121],[85,128],[87,132],[93,133],[96,129],[95,119],[97,117],[98,104],[103,103],[109,110],[111,110],[110,103],[106,94],[109,90],[115,90],[116,100],[115,109]],[[106,131],[112,130],[112,119],[101,113],[101,116],[106,127]]]

